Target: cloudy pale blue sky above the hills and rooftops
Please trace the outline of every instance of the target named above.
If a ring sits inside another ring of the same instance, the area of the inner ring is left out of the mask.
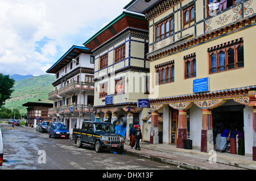
[[[0,0],[0,73],[43,75],[131,0]]]

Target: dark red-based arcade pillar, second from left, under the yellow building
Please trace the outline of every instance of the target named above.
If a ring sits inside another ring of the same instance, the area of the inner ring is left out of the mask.
[[[187,139],[187,111],[179,110],[178,120],[178,133],[177,133],[177,148],[184,148],[184,140]]]

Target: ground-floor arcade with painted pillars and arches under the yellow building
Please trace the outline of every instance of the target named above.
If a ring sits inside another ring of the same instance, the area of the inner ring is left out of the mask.
[[[240,130],[244,133],[242,146],[238,144],[238,134],[235,135],[236,147],[232,154],[238,154],[240,149],[244,152],[242,155],[254,155],[254,112],[250,95],[255,96],[255,91],[237,89],[150,99],[152,112],[150,142],[158,144],[154,134],[154,131],[159,129],[158,116],[155,115],[162,112],[165,144],[184,149],[185,141],[191,140],[193,147],[200,148],[202,152],[220,151],[221,129],[225,128],[229,133],[230,130],[232,132]],[[230,152],[230,142],[225,151]]]

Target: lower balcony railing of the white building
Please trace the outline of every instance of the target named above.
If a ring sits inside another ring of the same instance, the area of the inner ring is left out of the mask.
[[[79,104],[70,104],[68,106],[61,106],[49,109],[49,114],[61,114],[61,113],[79,113],[80,105]],[[81,105],[81,113],[92,113],[92,105]]]

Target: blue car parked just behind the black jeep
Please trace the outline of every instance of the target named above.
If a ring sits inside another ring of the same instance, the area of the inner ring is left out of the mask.
[[[69,138],[69,131],[67,127],[63,124],[52,124],[49,128],[49,138],[53,136],[53,138]]]

